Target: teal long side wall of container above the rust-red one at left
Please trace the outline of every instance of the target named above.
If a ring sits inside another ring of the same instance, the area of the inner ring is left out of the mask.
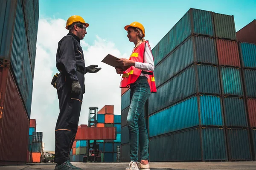
[[[22,99],[30,118],[33,78],[29,61],[25,20],[21,0],[17,1],[17,14],[13,32],[11,64]],[[33,28],[34,29],[34,28]]]

